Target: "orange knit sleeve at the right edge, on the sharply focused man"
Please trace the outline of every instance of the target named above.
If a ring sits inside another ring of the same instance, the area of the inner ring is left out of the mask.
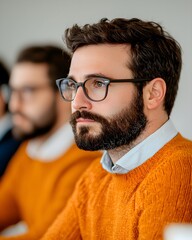
[[[192,221],[190,158],[174,156],[154,171],[140,194],[139,240],[162,240],[171,223]]]

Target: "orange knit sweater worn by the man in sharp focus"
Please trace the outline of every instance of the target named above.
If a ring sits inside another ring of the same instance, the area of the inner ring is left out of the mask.
[[[43,240],[159,240],[192,222],[192,142],[177,135],[127,174],[94,162]]]

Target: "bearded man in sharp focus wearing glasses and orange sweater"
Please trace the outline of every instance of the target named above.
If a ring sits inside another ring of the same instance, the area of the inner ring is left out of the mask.
[[[162,239],[192,222],[192,143],[169,119],[181,71],[179,44],[160,25],[102,19],[66,30],[67,78],[78,146],[106,150],[79,180],[43,240]]]

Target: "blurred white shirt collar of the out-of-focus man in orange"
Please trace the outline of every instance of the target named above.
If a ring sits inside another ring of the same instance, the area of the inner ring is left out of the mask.
[[[30,140],[27,145],[27,153],[30,157],[42,162],[54,161],[73,143],[72,128],[69,124],[65,124],[41,145],[35,140]]]

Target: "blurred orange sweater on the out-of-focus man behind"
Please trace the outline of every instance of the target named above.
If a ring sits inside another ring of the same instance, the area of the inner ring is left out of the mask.
[[[26,234],[0,239],[37,240],[65,206],[79,176],[99,152],[82,151],[74,144],[52,162],[26,155],[24,142],[0,182],[0,230],[24,220]]]

